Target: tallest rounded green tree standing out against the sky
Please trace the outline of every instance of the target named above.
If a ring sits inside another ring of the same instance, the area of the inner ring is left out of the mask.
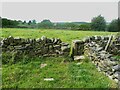
[[[91,29],[95,31],[105,31],[106,21],[101,15],[94,17],[91,21]]]

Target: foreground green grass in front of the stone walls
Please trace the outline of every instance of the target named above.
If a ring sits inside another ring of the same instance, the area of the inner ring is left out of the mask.
[[[63,62],[63,57],[35,58],[23,64],[3,65],[3,88],[115,88],[91,62]],[[47,64],[40,68],[40,64]],[[44,81],[54,78],[54,81]]]

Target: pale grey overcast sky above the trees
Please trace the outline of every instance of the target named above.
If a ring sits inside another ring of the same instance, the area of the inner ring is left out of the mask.
[[[3,2],[2,17],[16,20],[50,19],[57,21],[91,21],[101,14],[106,21],[118,17],[117,2]]]

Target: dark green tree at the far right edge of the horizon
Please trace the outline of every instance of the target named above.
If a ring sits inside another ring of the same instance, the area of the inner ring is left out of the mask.
[[[108,26],[108,31],[110,32],[120,32],[120,20],[119,19],[114,19]]]

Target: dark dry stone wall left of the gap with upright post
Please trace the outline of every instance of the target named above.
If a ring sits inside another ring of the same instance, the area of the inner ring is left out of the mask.
[[[47,38],[42,36],[38,39],[14,38],[9,36],[1,40],[2,52],[16,52],[16,55],[29,56],[52,56],[68,55],[70,45],[62,42],[59,38]]]

